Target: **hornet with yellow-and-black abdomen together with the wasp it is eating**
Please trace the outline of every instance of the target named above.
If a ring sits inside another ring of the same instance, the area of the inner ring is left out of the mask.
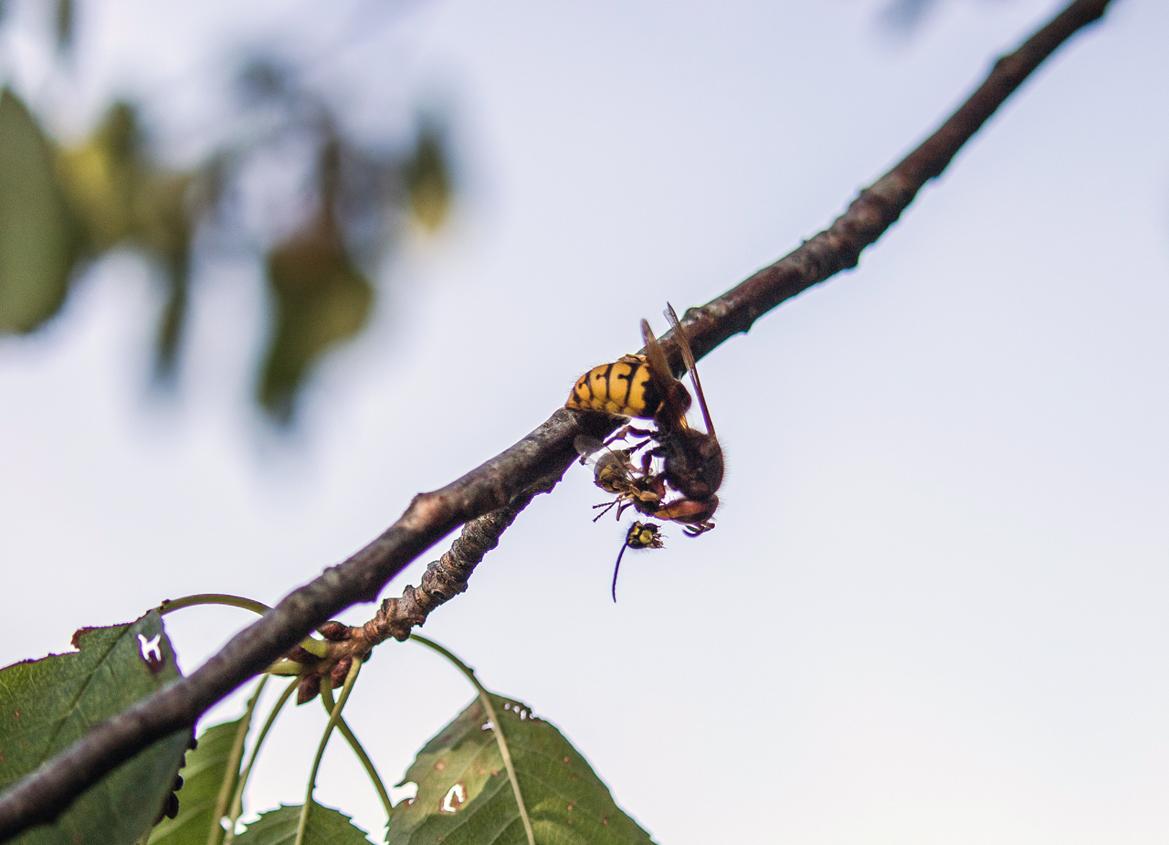
[[[577,438],[575,445],[581,452],[581,463],[590,460],[595,464],[594,483],[617,497],[611,503],[597,505],[604,508],[599,517],[616,507],[620,519],[627,507],[634,507],[645,515],[679,522],[689,536],[697,536],[714,527],[711,518],[719,506],[715,491],[722,484],[722,449],[714,435],[693,352],[678,316],[669,303],[665,316],[694,385],[706,431],[693,429],[686,422],[686,411],[692,403],[690,392],[673,378],[665,353],[646,320],[642,320],[645,354],[625,355],[614,363],[594,367],[577,379],[565,404],[582,411],[652,420],[657,427],[645,430],[625,425],[608,441],[611,443],[629,436],[641,437],[642,442],[632,449],[611,450],[608,449],[608,443],[595,438]],[[642,455],[641,466],[634,465],[631,455],[650,443],[656,445]],[[660,472],[652,469],[655,458],[662,459]],[[669,491],[679,496],[666,501]],[[618,568],[625,548],[644,547],[632,545],[631,539],[632,529],[617,555]],[[660,548],[660,543],[650,547]]]

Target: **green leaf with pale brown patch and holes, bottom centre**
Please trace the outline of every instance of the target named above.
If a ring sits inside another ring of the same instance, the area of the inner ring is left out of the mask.
[[[649,833],[556,730],[518,701],[491,697],[539,845],[649,845]],[[390,845],[526,845],[494,732],[476,699],[430,740],[402,783],[419,791],[389,818]]]

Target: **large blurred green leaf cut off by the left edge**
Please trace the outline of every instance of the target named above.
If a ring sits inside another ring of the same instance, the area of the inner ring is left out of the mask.
[[[0,333],[30,332],[65,299],[81,250],[54,152],[28,109],[0,90]]]

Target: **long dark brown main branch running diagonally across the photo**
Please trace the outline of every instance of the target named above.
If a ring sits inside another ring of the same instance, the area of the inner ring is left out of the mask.
[[[857,265],[908,207],[921,186],[949,165],[962,145],[1064,41],[1098,20],[1109,0],[1074,0],[1018,50],[999,58],[985,81],[929,138],[860,192],[825,231],[683,319],[701,358],[746,332],[760,316],[808,288]],[[677,346],[663,346],[680,372]],[[561,408],[519,443],[431,493],[414,497],[406,513],[344,563],[290,593],[260,622],[237,633],[191,677],[95,726],[84,737],[0,796],[0,841],[53,822],[88,787],[152,742],[189,729],[213,704],[263,672],[326,619],[357,602],[372,602],[410,561],[470,520],[548,490],[576,457],[581,434],[603,436],[603,415]]]

